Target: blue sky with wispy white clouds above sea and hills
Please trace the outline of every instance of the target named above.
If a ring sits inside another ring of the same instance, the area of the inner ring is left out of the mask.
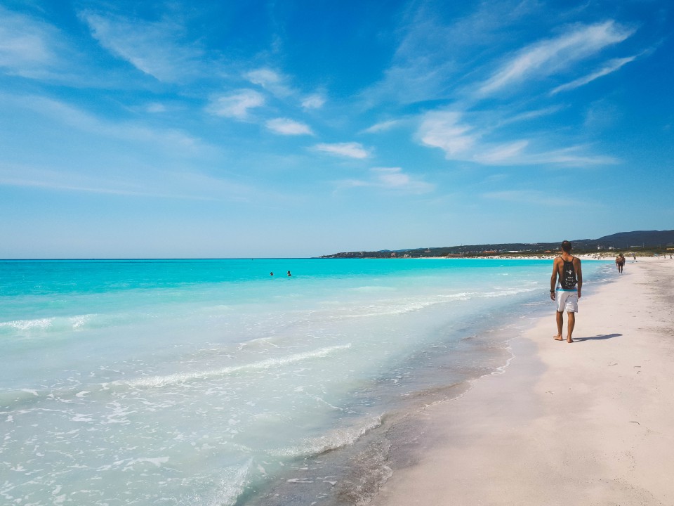
[[[0,258],[674,228],[673,8],[0,0]]]

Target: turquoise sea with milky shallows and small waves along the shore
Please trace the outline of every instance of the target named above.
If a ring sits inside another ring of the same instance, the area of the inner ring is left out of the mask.
[[[406,413],[553,332],[551,268],[0,261],[0,503],[363,502]],[[609,268],[583,262],[586,293]]]

